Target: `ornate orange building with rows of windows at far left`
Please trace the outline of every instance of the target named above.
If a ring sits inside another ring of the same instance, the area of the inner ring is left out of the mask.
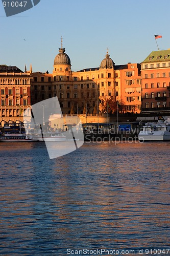
[[[31,106],[31,71],[0,66],[0,124],[20,122],[21,113]]]

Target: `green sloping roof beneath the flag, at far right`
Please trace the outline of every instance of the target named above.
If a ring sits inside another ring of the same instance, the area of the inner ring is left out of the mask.
[[[170,49],[151,52],[150,55],[148,55],[148,57],[145,58],[141,63],[158,61],[170,61]]]

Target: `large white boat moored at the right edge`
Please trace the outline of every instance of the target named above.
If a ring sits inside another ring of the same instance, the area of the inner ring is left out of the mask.
[[[167,141],[170,140],[170,119],[158,120],[156,123],[145,123],[142,131],[138,134],[139,141],[157,140]]]

